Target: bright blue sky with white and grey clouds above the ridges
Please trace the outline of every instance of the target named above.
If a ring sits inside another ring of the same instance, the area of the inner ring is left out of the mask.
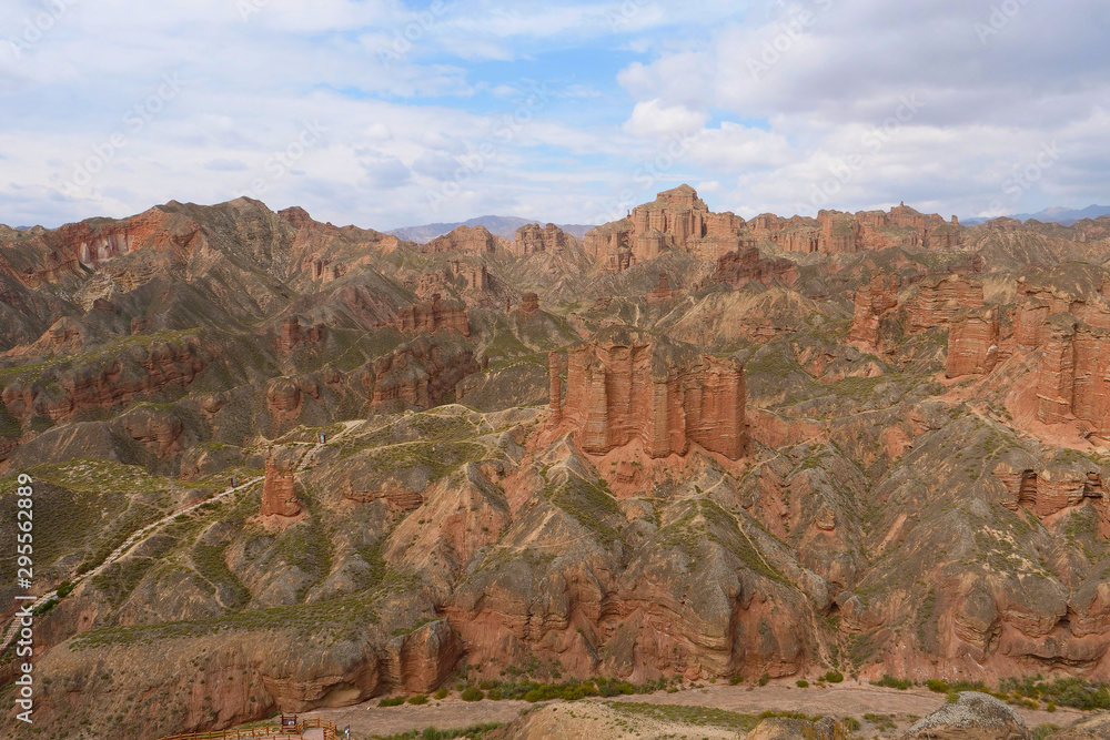
[[[4,0],[0,222],[1107,204],[1108,37],[1101,0]]]

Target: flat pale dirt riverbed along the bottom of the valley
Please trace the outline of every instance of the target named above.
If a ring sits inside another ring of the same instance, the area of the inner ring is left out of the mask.
[[[860,736],[865,738],[898,738],[916,721],[940,707],[945,698],[925,689],[899,691],[868,685],[846,683],[835,687],[798,689],[788,685],[766,687],[706,686],[687,689],[677,693],[663,691],[650,695],[616,697],[613,699],[586,699],[585,701],[633,701],[657,704],[684,704],[712,707],[746,714],[758,714],[766,710],[799,711],[807,714],[833,717],[855,717],[862,722]],[[346,707],[309,712],[305,717],[324,717],[333,720],[339,728],[351,726],[352,738],[369,738],[371,734],[395,734],[434,727],[440,730],[461,730],[486,722],[511,722],[521,711],[535,707],[526,701],[462,701],[453,695],[443,701],[432,700],[422,707],[408,704],[382,708],[379,700]],[[1059,708],[1056,712],[1018,709],[1030,728],[1038,724],[1066,727],[1082,712]],[[896,727],[885,731],[864,721],[864,714],[885,714]]]

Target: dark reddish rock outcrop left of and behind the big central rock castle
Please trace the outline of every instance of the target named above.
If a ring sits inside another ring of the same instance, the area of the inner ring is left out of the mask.
[[[366,379],[371,406],[404,402],[423,408],[440,405],[467,375],[480,372],[474,351],[423,335],[374,363]]]

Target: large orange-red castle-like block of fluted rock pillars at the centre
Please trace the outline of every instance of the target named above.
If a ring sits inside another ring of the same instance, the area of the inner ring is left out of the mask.
[[[587,453],[637,438],[652,457],[685,454],[693,442],[738,459],[747,439],[744,366],[637,328],[609,327],[568,351],[561,414]]]

